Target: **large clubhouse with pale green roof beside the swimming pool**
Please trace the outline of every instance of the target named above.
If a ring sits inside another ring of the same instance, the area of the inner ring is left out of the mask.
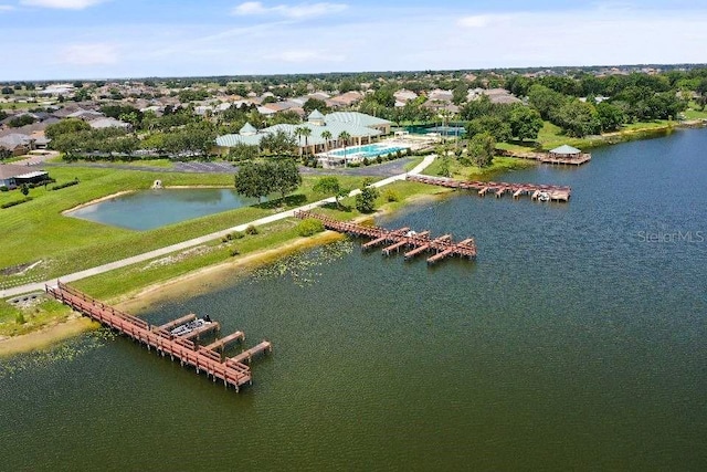
[[[217,146],[229,148],[239,144],[260,146],[261,140],[268,134],[284,132],[297,139],[300,150],[310,154],[325,153],[330,148],[346,145],[362,145],[372,143],[373,138],[390,134],[391,123],[358,112],[335,112],[323,115],[318,111],[312,112],[307,123],[302,125],[281,124],[257,130],[250,123],[245,124],[238,134],[223,135],[217,138]],[[306,135],[298,134],[298,129],[307,129]],[[348,137],[346,137],[348,135]]]

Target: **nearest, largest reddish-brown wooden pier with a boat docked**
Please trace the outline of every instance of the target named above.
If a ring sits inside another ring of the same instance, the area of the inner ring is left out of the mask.
[[[199,346],[189,338],[218,329],[218,323],[211,322],[186,335],[176,336],[170,333],[170,329],[193,322],[197,315],[189,314],[161,326],[152,326],[144,319],[106,305],[61,282],[57,282],[56,286],[46,285],[45,290],[49,295],[83,315],[145,344],[148,350],[155,348],[162,356],[169,356],[172,360],[178,359],[182,366],[194,367],[197,374],[205,371],[214,382],[223,381],[226,388],[233,386],[235,391],[244,385],[253,384],[251,368],[242,360],[250,360],[257,354],[273,349],[271,343],[264,340],[235,357],[222,359],[222,355],[217,349],[224,349],[229,343],[243,340],[245,338],[243,333],[236,332],[208,346]],[[197,334],[193,334],[194,332]]]

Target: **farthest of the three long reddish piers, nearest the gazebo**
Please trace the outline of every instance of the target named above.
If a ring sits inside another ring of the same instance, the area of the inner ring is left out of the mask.
[[[495,195],[502,198],[505,193],[513,195],[514,199],[529,196],[534,200],[568,202],[572,189],[568,186],[547,186],[537,183],[509,183],[509,182],[483,182],[478,180],[455,180],[446,177],[432,177],[410,174],[408,180],[431,186],[447,187],[461,190],[476,190],[479,197]]]

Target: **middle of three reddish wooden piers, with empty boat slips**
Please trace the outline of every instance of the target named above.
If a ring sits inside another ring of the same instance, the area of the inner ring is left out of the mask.
[[[429,264],[434,264],[451,256],[466,258],[469,260],[476,259],[476,243],[473,238],[465,239],[462,242],[454,242],[451,234],[432,239],[430,231],[414,232],[410,231],[409,228],[388,230],[379,227],[365,227],[347,221],[338,221],[334,218],[310,211],[298,211],[295,213],[295,217],[303,220],[306,218],[315,218],[321,221],[328,230],[359,238],[370,238],[371,241],[361,247],[363,250],[381,244],[389,244],[382,250],[386,255],[399,252],[402,248],[410,248],[411,250],[405,252],[405,260],[412,259],[423,252],[434,252],[434,255],[428,258]]]

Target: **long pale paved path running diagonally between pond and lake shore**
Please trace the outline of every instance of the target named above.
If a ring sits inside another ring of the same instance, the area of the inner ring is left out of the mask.
[[[432,164],[434,158],[435,158],[434,155],[425,157],[424,160],[420,165],[418,165],[414,169],[412,169],[410,171],[410,174],[420,174],[430,164]],[[399,175],[395,175],[395,176],[392,176],[392,177],[388,177],[388,178],[386,178],[383,180],[379,180],[376,183],[373,183],[373,187],[383,187],[383,186],[387,186],[389,183],[395,182],[398,180],[404,180],[407,178],[407,176],[408,176],[408,174],[403,172],[403,174],[399,174]],[[349,193],[349,197],[356,196],[356,195],[358,195],[360,192],[361,192],[360,189],[356,189],[356,190],[354,190],[354,191],[351,191]],[[222,239],[226,234],[232,233],[234,231],[245,231],[245,229],[251,224],[253,224],[253,225],[263,225],[263,224],[272,223],[274,221],[279,221],[279,220],[283,220],[285,218],[291,218],[291,217],[293,217],[295,214],[296,211],[312,210],[313,208],[320,207],[320,206],[323,206],[325,203],[334,203],[335,201],[336,200],[334,199],[334,197],[326,198],[324,200],[319,200],[319,201],[316,201],[314,203],[309,203],[309,204],[305,204],[303,207],[295,208],[294,210],[287,210],[287,211],[281,212],[281,213],[271,214],[270,217],[261,218],[258,220],[254,220],[254,221],[251,221],[251,222],[247,222],[247,223],[244,223],[244,224],[240,224],[240,225],[234,227],[234,228],[229,228],[226,230],[217,231],[217,232],[211,233],[211,234],[205,234],[205,235],[202,235],[202,237],[199,237],[199,238],[190,239],[189,241],[184,241],[184,242],[180,242],[180,243],[177,243],[177,244],[168,245],[166,248],[156,249],[154,251],[145,252],[143,254],[134,255],[131,258],[122,259],[119,261],[110,262],[108,264],[98,265],[97,268],[87,269],[87,270],[81,271],[81,272],[74,272],[73,274],[62,275],[59,279],[61,279],[62,282],[74,282],[74,281],[77,281],[77,280],[81,280],[81,279],[89,277],[92,275],[103,274],[104,272],[113,271],[115,269],[125,268],[127,265],[133,265],[133,264],[136,264],[138,262],[145,262],[145,261],[148,261],[150,259],[159,258],[161,255],[167,255],[167,254],[176,252],[176,251],[183,251],[186,249],[193,248],[196,245],[203,244],[203,243],[209,242],[209,241]],[[2,290],[2,291],[0,291],[0,298],[7,298],[7,297],[10,297],[10,296],[21,295],[23,293],[41,291],[41,290],[44,290],[44,285],[54,284],[54,282],[55,282],[55,280],[53,279],[51,281],[38,282],[38,283],[33,283],[33,284],[20,285],[20,286],[13,287],[13,289]]]

